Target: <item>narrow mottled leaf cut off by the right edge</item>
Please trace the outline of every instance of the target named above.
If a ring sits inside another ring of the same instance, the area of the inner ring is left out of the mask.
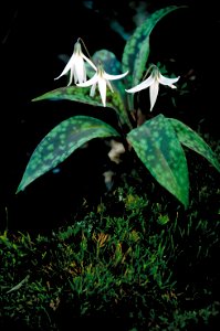
[[[206,158],[218,171],[220,171],[220,163],[217,159],[217,156],[212,149],[207,145],[207,142],[191,128],[189,128],[184,122],[169,118],[179,141],[186,147],[192,149],[197,153]]]

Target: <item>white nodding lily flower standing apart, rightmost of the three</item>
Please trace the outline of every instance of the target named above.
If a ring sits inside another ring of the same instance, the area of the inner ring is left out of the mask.
[[[127,93],[136,93],[139,92],[144,88],[149,87],[149,100],[150,100],[150,111],[153,110],[153,107],[155,106],[158,92],[159,92],[159,84],[167,85],[171,88],[177,88],[174,83],[177,83],[179,81],[179,77],[176,78],[167,78],[163,76],[156,65],[153,65],[151,67],[151,74],[150,76],[138,84],[137,86],[130,88],[130,89],[125,89]]]

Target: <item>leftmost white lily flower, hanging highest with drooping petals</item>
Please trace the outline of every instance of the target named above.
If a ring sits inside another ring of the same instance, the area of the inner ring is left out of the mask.
[[[95,71],[97,70],[96,66],[93,64],[93,62],[86,57],[81,49],[81,43],[77,41],[74,45],[74,52],[71,58],[69,60],[66,66],[64,67],[63,72],[61,75],[54,79],[59,79],[61,76],[67,74],[69,71],[71,71],[70,74],[70,82],[67,86],[71,85],[73,77],[74,77],[74,83],[83,83],[86,81],[86,70],[85,70],[85,63],[86,61]]]

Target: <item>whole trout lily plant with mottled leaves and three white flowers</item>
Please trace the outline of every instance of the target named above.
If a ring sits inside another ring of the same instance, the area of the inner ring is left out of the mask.
[[[108,153],[112,160],[118,160],[117,151],[139,158],[155,180],[185,207],[189,203],[189,173],[182,147],[201,154],[220,171],[211,148],[190,127],[163,114],[146,120],[139,111],[140,106],[136,106],[135,96],[142,89],[149,87],[151,111],[159,84],[178,87],[174,84],[178,83],[179,77],[165,77],[156,65],[149,66],[147,63],[153,29],[161,18],[178,8],[170,6],[157,10],[137,26],[125,42],[122,62],[107,50],[99,50],[88,58],[82,51],[82,41],[77,40],[73,55],[57,77],[70,72],[67,86],[48,92],[33,100],[69,99],[103,107],[103,111],[106,109],[104,107],[108,107],[116,113],[118,124],[113,127],[96,118],[95,113],[92,116],[74,115],[60,122],[36,146],[17,193],[94,138],[119,140],[121,143],[116,143]],[[73,78],[74,86],[70,86]]]

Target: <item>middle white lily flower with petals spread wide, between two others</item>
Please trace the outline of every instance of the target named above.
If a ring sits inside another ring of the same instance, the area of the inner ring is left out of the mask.
[[[98,85],[102,103],[103,103],[103,106],[105,107],[106,106],[106,85],[109,87],[111,92],[114,92],[109,81],[123,78],[127,74],[128,74],[128,72],[126,72],[122,75],[109,75],[104,71],[103,66],[99,64],[97,66],[97,72],[91,79],[88,79],[85,83],[80,83],[76,85],[80,87],[92,86],[91,93],[90,93],[91,97],[93,97],[95,95],[95,89],[96,89],[96,86]]]

